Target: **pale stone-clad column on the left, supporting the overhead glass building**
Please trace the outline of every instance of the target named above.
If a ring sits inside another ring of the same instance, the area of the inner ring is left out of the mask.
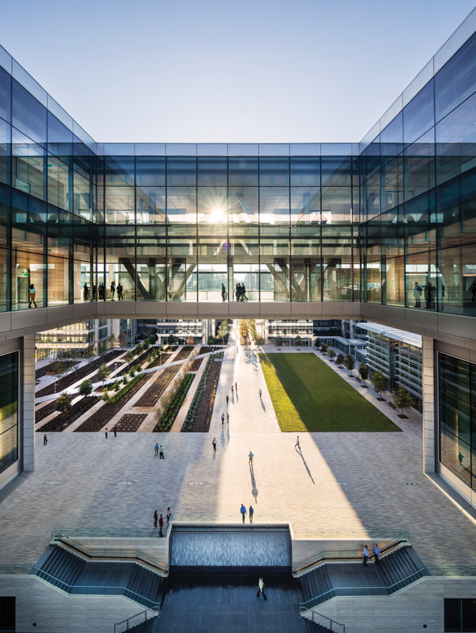
[[[20,363],[20,370],[22,364]],[[35,470],[35,335],[23,337],[23,470]]]

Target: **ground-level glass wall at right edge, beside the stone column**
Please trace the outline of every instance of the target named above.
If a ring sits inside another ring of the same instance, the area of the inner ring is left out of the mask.
[[[438,354],[438,392],[440,461],[475,488],[476,364]]]

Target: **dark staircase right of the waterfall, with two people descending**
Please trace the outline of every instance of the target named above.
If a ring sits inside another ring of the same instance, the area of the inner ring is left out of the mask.
[[[358,563],[326,563],[301,577],[301,615],[309,617],[306,611],[335,596],[392,595],[428,575],[413,547],[388,554],[379,566],[374,562],[367,563],[367,567]]]

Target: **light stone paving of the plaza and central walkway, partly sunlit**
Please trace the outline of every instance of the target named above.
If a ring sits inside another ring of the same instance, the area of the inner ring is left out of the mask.
[[[46,447],[36,434],[35,472],[0,504],[0,564],[32,566],[54,528],[152,527],[168,506],[239,523],[252,503],[256,523],[289,515],[296,530],[405,529],[427,566],[476,568],[474,524],[423,474],[415,418],[398,419],[403,433],[301,433],[298,451],[278,428],[256,350],[232,339],[209,433],[50,433]]]

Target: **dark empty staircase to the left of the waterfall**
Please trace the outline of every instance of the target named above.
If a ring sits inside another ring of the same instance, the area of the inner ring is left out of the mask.
[[[45,582],[70,595],[124,595],[145,609],[159,606],[157,596],[162,577],[136,563],[85,561],[49,545],[31,570]]]

